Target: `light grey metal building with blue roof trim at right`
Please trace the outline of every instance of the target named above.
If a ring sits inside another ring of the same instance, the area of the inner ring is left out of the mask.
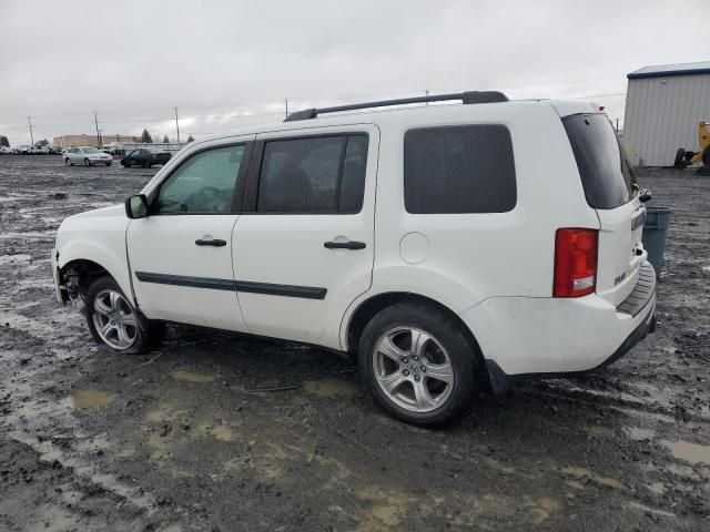
[[[710,61],[645,66],[627,75],[623,145],[633,166],[672,166],[679,147],[698,151],[710,122]]]

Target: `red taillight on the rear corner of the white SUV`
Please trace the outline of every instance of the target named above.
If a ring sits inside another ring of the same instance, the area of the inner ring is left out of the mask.
[[[557,229],[554,297],[579,297],[595,291],[597,243],[595,229]]]

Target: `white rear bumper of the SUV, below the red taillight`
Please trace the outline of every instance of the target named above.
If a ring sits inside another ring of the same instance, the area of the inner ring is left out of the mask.
[[[493,372],[507,378],[588,371],[628,352],[655,325],[656,280],[646,264],[652,282],[639,276],[619,307],[592,294],[569,299],[491,298],[463,313],[493,369],[491,380]]]

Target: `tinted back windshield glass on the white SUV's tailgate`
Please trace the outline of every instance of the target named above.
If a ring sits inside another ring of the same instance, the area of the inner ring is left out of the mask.
[[[594,208],[616,208],[633,196],[636,177],[604,114],[576,114],[562,119],[585,187]]]

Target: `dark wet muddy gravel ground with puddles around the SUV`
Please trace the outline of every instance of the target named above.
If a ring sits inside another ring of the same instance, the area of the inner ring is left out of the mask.
[[[673,209],[655,335],[428,431],[314,348],[171,326],[99,349],[54,299],[53,235],[154,172],[0,157],[0,529],[710,530],[710,177],[639,175]]]

